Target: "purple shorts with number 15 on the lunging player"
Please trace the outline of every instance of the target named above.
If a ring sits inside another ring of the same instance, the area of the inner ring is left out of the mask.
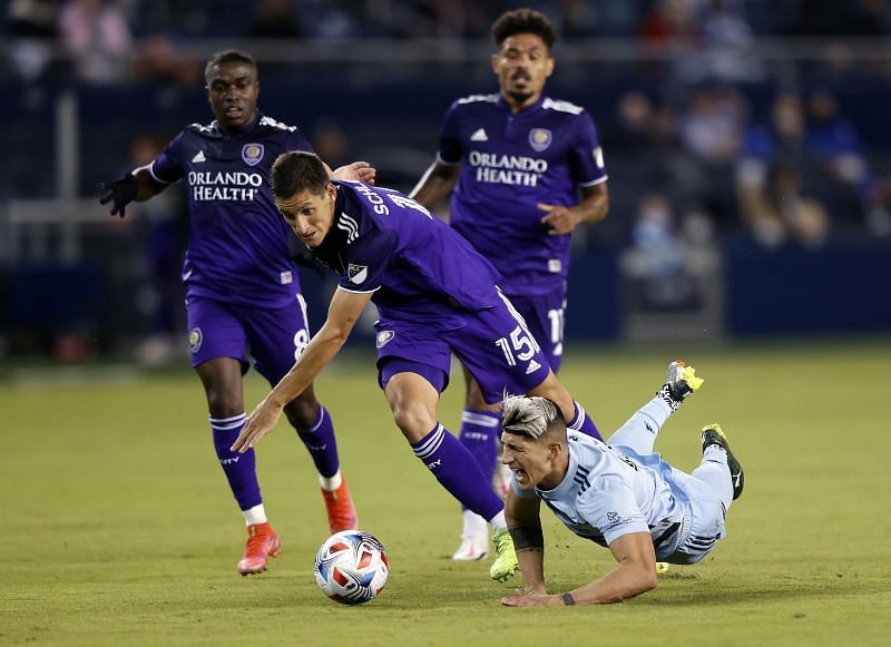
[[[482,396],[491,404],[501,402],[505,390],[527,393],[548,376],[547,357],[507,297],[502,296],[493,307],[460,316],[464,325],[449,330],[419,322],[379,321],[375,327],[381,386],[404,369],[419,373],[442,391],[448,380],[440,380],[439,375],[449,374],[452,353],[473,374]],[[412,370],[411,363],[434,371]]]

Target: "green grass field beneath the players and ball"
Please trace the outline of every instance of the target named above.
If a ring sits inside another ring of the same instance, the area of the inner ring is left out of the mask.
[[[564,381],[605,432],[688,349],[569,349]],[[319,382],[363,529],[388,549],[381,596],[325,599],[312,576],[326,522],[307,454],[281,424],[260,445],[282,537],[242,578],[241,514],[216,463],[198,381],[95,367],[7,371],[0,382],[0,644],[888,645],[891,641],[891,340],[748,344],[687,354],[705,385],[657,450],[682,469],[719,421],[746,468],[730,537],[659,587],[608,607],[508,609],[487,562],[449,559],[458,506],[413,458],[364,355]],[[252,406],[265,383],[252,374]],[[457,431],[460,384],[441,419]],[[551,590],[610,568],[545,512]]]

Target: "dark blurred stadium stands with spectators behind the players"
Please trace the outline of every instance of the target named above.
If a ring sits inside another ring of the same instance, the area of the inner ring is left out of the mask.
[[[574,237],[567,334],[891,331],[884,0],[550,0],[550,96],[593,114],[611,209]],[[110,218],[99,179],[213,118],[203,62],[260,62],[260,107],[332,166],[410,189],[449,104],[497,91],[497,0],[10,0],[0,84],[0,360],[184,352],[177,192]],[[312,105],[303,98],[312,98]],[[304,276],[317,324],[330,288]]]

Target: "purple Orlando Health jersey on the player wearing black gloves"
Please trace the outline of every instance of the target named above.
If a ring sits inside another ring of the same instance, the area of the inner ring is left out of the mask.
[[[155,179],[187,182],[189,241],[183,265],[186,296],[257,307],[293,304],[300,292],[288,258],[288,229],[268,176],[287,150],[312,150],[303,134],[257,112],[234,135],[192,124],[151,163]]]

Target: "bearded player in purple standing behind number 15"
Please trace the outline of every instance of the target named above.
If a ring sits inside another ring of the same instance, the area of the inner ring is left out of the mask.
[[[607,214],[604,156],[588,112],[542,94],[555,65],[548,19],[531,9],[508,11],[492,26],[492,38],[500,94],[452,104],[437,159],[411,197],[432,207],[451,193],[449,222],[498,269],[499,286],[557,372],[569,236]],[[460,439],[491,477],[501,415],[467,370],[464,383]],[[507,474],[496,474],[502,493]],[[461,539],[453,559],[480,559],[489,550],[484,521],[468,510]]]

